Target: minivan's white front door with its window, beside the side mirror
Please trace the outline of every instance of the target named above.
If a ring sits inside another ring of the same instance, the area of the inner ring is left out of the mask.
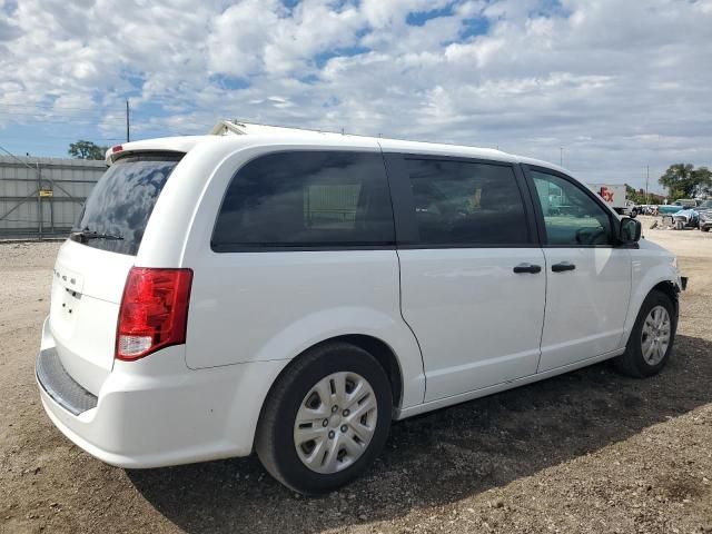
[[[538,372],[615,350],[631,294],[631,254],[616,219],[582,185],[531,168],[545,228],[546,313]]]

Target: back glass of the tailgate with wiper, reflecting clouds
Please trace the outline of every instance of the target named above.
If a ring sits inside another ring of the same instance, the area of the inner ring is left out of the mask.
[[[182,156],[152,154],[116,161],[89,195],[70,239],[136,256],[156,200]]]

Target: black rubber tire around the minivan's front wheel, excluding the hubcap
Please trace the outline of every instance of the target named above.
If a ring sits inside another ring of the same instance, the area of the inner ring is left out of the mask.
[[[647,315],[656,306],[664,307],[668,314],[670,315],[670,322],[671,322],[670,344],[668,345],[668,349],[665,350],[665,355],[663,356],[663,358],[657,364],[650,365],[643,357],[643,348],[642,348],[643,324]],[[672,348],[675,342],[676,329],[678,329],[676,305],[672,301],[672,299],[666,294],[659,290],[651,291],[650,295],[645,297],[645,300],[643,301],[643,305],[641,306],[641,309],[637,313],[635,324],[633,325],[633,330],[631,332],[631,336],[629,337],[627,345],[625,347],[625,353],[623,353],[621,356],[617,356],[613,360],[615,369],[619,373],[622,373],[627,376],[632,376],[634,378],[645,378],[649,376],[656,375],[657,373],[661,372],[661,369],[668,364],[668,360],[670,359],[670,355],[672,354]]]

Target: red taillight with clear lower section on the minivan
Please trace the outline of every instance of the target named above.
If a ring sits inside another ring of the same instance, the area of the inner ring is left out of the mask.
[[[186,343],[191,269],[131,267],[116,333],[116,358],[134,360]]]

